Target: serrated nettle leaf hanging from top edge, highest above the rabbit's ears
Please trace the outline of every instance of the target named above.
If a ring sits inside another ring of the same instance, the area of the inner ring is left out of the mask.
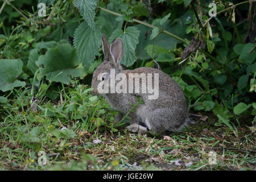
[[[80,14],[92,28],[95,27],[95,9],[97,1],[96,0],[75,0],[74,6],[79,9]]]

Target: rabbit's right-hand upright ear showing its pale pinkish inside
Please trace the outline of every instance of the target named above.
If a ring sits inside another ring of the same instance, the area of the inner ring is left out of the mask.
[[[115,65],[120,65],[123,57],[123,41],[120,38],[115,39],[110,46],[110,55]]]

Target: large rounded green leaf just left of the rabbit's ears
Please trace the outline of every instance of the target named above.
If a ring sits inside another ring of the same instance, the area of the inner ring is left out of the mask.
[[[80,77],[84,71],[82,68],[76,68],[79,63],[75,49],[67,43],[50,48],[46,55],[39,57],[37,65],[40,67],[40,74],[46,75],[47,80],[69,84],[71,76]]]

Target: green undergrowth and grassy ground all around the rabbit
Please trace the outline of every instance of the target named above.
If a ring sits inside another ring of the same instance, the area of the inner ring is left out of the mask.
[[[255,169],[255,2],[214,1],[212,17],[210,2],[0,1],[0,168]],[[90,92],[102,34],[122,38],[128,69],[155,60],[196,123],[165,137],[113,126]]]

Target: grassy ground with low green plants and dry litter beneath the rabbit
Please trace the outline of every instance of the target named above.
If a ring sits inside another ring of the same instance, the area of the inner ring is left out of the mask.
[[[211,113],[204,113],[207,121],[193,118],[181,133],[132,134],[126,124],[113,127],[116,111],[90,90],[75,81],[61,85],[55,101],[36,96],[42,101],[36,109],[30,88],[13,90],[0,105],[0,169],[255,170],[255,133],[243,122],[237,137],[230,127],[214,125]]]

